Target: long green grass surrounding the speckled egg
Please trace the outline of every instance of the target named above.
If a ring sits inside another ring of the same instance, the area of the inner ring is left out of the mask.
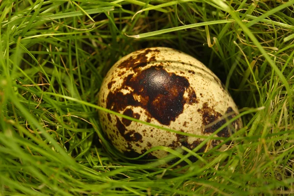
[[[245,125],[233,148],[157,147],[189,163],[165,169],[105,140],[103,76],[153,46],[221,78]],[[293,98],[294,0],[0,0],[0,196],[292,195]]]

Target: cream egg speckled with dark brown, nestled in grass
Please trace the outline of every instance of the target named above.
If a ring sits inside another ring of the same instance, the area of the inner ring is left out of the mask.
[[[147,48],[121,58],[106,74],[98,105],[162,127],[209,136],[238,114],[238,109],[220,79],[194,57],[170,48]],[[175,134],[99,111],[103,131],[114,147],[128,157],[165,146],[195,148],[203,139]],[[207,126],[208,125],[208,126]],[[215,137],[229,137],[242,127],[241,120]],[[199,151],[212,148],[208,142]],[[162,158],[155,150],[147,158]]]

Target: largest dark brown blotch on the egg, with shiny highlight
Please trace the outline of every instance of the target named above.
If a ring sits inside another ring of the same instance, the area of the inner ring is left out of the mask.
[[[122,88],[133,91],[123,94]],[[187,98],[184,93],[187,92]],[[139,96],[140,101],[134,96]],[[141,107],[151,119],[169,125],[183,113],[184,105],[197,103],[196,93],[189,81],[175,73],[168,73],[162,66],[153,66],[136,74],[125,77],[121,88],[110,92],[106,99],[106,108],[116,112],[128,106]]]

